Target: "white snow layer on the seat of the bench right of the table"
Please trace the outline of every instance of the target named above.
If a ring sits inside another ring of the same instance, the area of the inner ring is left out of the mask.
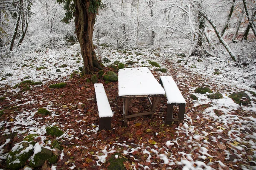
[[[177,103],[177,104],[186,104],[186,101],[172,76],[160,76],[160,79],[163,83],[163,88],[166,91],[167,104]]]

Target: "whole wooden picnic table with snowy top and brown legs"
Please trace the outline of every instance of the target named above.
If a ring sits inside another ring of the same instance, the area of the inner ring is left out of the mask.
[[[123,68],[118,72],[118,95],[123,98],[124,123],[127,119],[137,116],[151,115],[157,107],[160,97],[165,94],[164,89],[147,67]],[[129,99],[147,97],[151,105],[148,112],[128,115]],[[152,101],[150,100],[152,97]]]

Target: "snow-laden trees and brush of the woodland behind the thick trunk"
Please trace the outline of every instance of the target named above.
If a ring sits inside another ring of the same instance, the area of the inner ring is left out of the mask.
[[[24,56],[46,49],[64,55],[60,49],[77,42],[74,23],[61,22],[65,16],[61,4],[54,0],[12,3],[16,1],[0,1],[2,62],[11,58],[17,64]],[[108,58],[104,45],[149,50],[156,56],[171,51],[170,57],[183,57],[177,61],[180,65],[219,71],[255,88],[255,15],[255,0],[102,0],[94,45],[100,60]],[[17,66],[22,65],[12,64]],[[6,79],[8,73],[2,70],[0,76]]]

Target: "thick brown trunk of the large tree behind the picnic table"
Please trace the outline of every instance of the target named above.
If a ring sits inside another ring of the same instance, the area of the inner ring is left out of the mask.
[[[100,68],[93,46],[93,26],[96,14],[89,10],[90,1],[75,0],[75,25],[76,35],[80,43],[81,55],[83,57],[84,74],[93,74],[96,68]]]

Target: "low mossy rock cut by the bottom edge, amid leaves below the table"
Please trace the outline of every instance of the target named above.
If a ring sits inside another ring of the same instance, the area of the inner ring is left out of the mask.
[[[118,158],[116,159],[116,155]],[[123,162],[127,161],[120,153],[116,155],[112,155],[111,158],[108,160],[110,165],[108,166],[108,170],[126,170],[125,165]]]

